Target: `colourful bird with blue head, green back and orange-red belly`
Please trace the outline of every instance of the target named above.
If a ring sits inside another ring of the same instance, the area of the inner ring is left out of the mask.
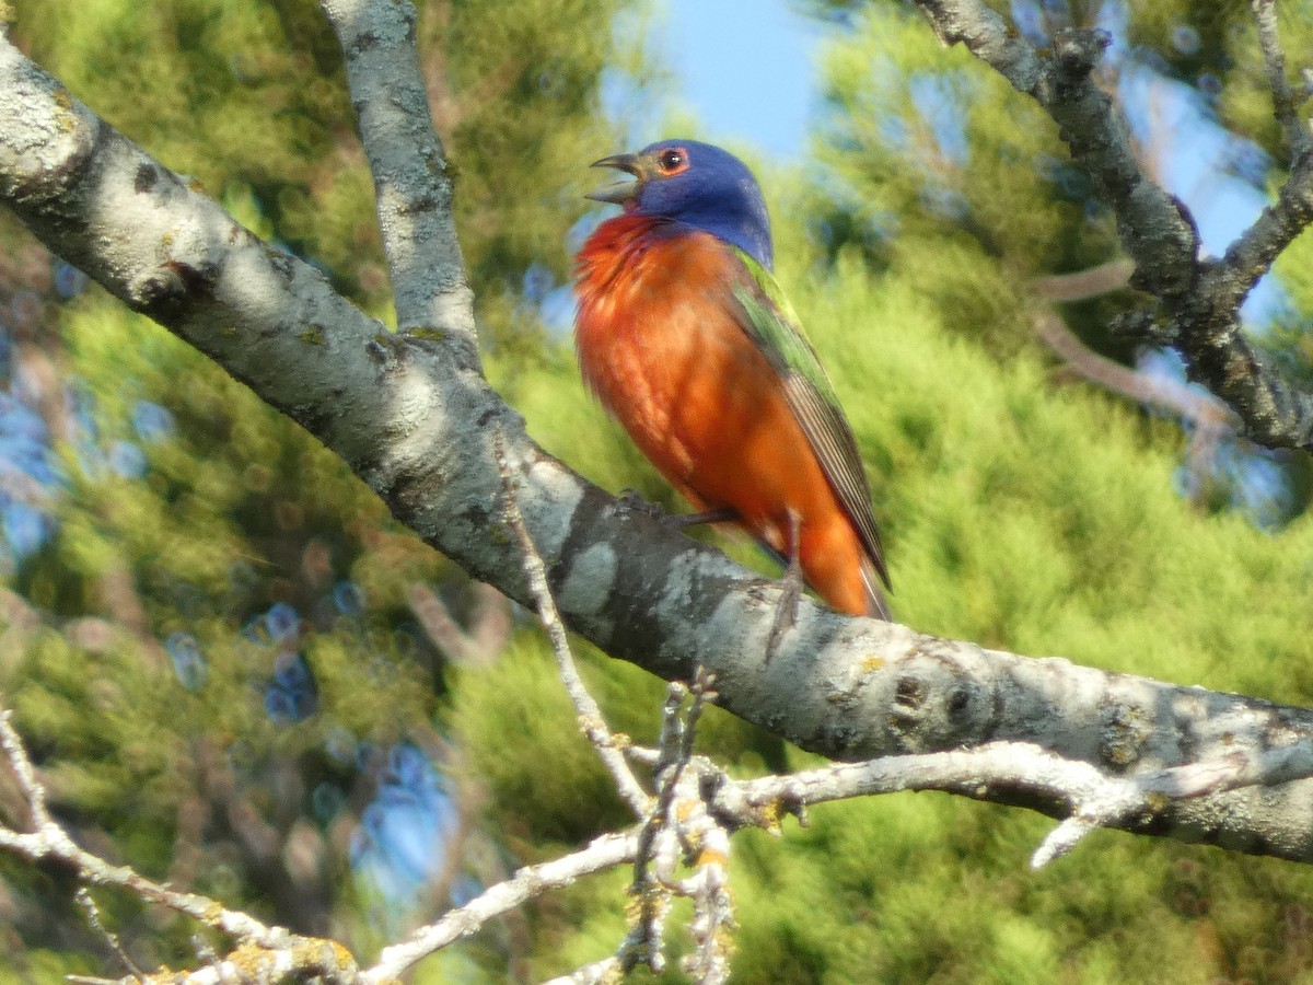
[[[729,151],[667,139],[603,158],[622,206],[575,257],[584,383],[693,506],[730,519],[832,608],[889,620],[871,487],[834,386],[775,280],[755,176]],[[675,517],[681,519],[681,517]]]

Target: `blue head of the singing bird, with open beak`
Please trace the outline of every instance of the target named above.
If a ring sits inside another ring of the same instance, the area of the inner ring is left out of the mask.
[[[590,198],[704,230],[768,269],[775,264],[762,189],[729,151],[697,141],[660,141],[637,154],[603,158],[593,167],[628,171],[635,180],[600,188]]]

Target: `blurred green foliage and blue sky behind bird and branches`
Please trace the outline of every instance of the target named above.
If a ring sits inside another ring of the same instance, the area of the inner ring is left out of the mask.
[[[391,319],[316,4],[13,7],[17,43],[75,96]],[[681,508],[583,391],[570,256],[608,214],[582,197],[590,162],[713,141],[765,188],[777,274],[876,490],[901,621],[1313,703],[1306,456],[1237,439],[1173,352],[1115,331],[1145,299],[1112,215],[1052,121],[914,8],[419,7],[488,376],[550,452]],[[999,9],[1041,45],[1069,25],[1112,33],[1100,81],[1207,251],[1283,180],[1247,4]],[[1279,5],[1292,74],[1313,64],[1309,14]],[[372,955],[625,822],[527,613],[12,217],[0,229],[0,700],[81,844]],[[1255,344],[1305,382],[1310,271],[1305,235],[1245,309]],[[579,649],[614,726],[651,741],[660,682]],[[716,712],[701,750],[742,775],[811,763]],[[0,816],[20,805],[0,777]],[[1032,873],[1049,825],[903,795],[813,810],[783,838],[743,833],[735,978],[1313,981],[1305,868],[1102,833]],[[611,953],[628,876],[545,897],[414,980],[541,980]],[[139,965],[193,959],[188,921],[96,898]],[[0,858],[0,982],[67,973],[125,969],[66,873]]]

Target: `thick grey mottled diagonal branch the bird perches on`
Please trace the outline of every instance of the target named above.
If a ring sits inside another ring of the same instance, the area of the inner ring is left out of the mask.
[[[395,335],[268,247],[0,42],[0,196],[53,248],[337,452],[431,545],[528,602],[491,435],[562,617],[667,679],[838,759],[995,739],[1138,772],[1313,737],[1313,712],[993,653],[804,603],[767,658],[779,587],[545,454],[467,347]],[[1003,799],[1003,797],[1001,797]],[[1137,830],[1313,860],[1313,784],[1166,805]]]

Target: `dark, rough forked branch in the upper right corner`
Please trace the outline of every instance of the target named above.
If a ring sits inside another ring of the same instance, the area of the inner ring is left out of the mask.
[[[1313,221],[1310,155],[1296,150],[1278,201],[1232,246],[1224,263],[1201,260],[1194,218],[1144,173],[1125,121],[1094,81],[1106,33],[1061,32],[1052,53],[1041,53],[983,0],[916,3],[940,38],[966,45],[1053,117],[1073,159],[1112,206],[1123,246],[1136,264],[1132,285],[1157,297],[1167,336],[1184,353],[1191,377],[1239,415],[1245,435],[1255,443],[1313,448],[1313,394],[1263,365],[1239,331],[1245,296]],[[1266,7],[1262,0],[1258,5]]]

